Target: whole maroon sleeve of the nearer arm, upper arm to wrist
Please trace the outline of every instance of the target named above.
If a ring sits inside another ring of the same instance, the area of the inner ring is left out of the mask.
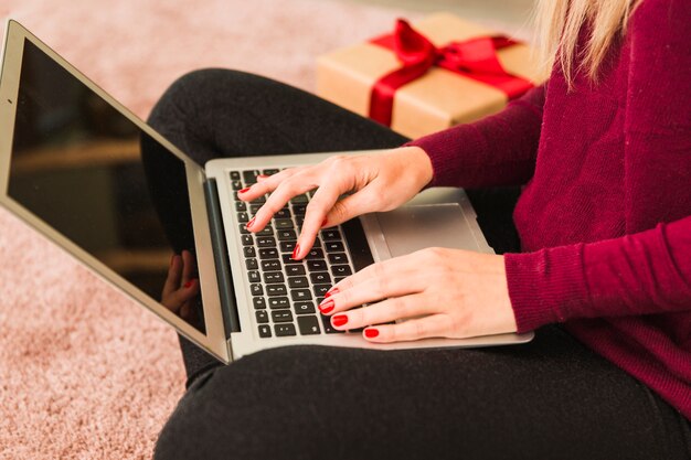
[[[689,18],[687,0],[645,1],[631,17],[623,206],[628,235],[506,255],[520,331],[576,318],[691,310],[691,210],[680,214],[672,205],[691,183]]]

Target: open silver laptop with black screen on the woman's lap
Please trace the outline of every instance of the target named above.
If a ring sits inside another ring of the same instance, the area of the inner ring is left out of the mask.
[[[398,350],[532,339],[375,344],[361,331],[333,330],[317,309],[331,285],[375,261],[428,246],[492,253],[463,190],[429,189],[395,211],[325,228],[295,261],[311,194],[249,234],[245,224],[261,203],[238,201],[237,191],[258,174],[333,152],[200,165],[15,21],[1,72],[0,204],[220,361],[297,344]],[[199,280],[184,314],[161,298],[171,257],[183,253]]]

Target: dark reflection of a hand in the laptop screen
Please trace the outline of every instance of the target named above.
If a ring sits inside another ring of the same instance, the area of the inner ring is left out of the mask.
[[[193,319],[192,300],[199,295],[199,280],[194,278],[195,269],[196,263],[192,253],[183,250],[181,255],[173,254],[161,293],[161,303],[187,321]]]

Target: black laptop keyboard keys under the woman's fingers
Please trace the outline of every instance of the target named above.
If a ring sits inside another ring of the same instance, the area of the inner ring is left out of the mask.
[[[256,183],[258,174],[278,171],[230,172],[258,334],[272,338],[343,333],[333,329],[329,317],[317,309],[331,286],[354,271],[341,226],[320,231],[302,260],[290,258],[311,192],[290,200],[262,232],[253,234],[245,228],[266,197],[245,203],[238,200],[237,191]]]

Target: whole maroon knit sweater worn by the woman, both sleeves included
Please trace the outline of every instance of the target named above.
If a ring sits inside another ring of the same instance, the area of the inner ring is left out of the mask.
[[[691,418],[691,2],[644,0],[597,84],[548,84],[418,139],[432,185],[527,184],[519,332],[563,322]],[[585,35],[585,33],[583,34]]]

